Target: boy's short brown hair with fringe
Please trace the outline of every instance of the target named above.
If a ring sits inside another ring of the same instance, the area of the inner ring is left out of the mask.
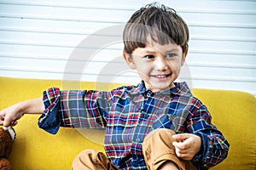
[[[123,32],[124,52],[131,54],[136,48],[144,48],[148,36],[165,45],[175,42],[183,49],[188,48],[189,28],[172,8],[151,3],[131,15]]]

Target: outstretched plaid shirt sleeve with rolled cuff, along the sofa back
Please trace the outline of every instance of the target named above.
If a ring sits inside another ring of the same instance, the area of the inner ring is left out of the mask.
[[[94,90],[49,88],[43,94],[45,110],[38,119],[38,126],[49,133],[57,133],[59,127],[106,127],[111,95]]]

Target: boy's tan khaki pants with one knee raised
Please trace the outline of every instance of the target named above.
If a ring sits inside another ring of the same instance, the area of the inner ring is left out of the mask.
[[[165,128],[156,129],[146,136],[143,141],[143,156],[148,170],[157,170],[166,161],[174,162],[180,170],[196,170],[190,161],[179,159],[172,145],[173,131]],[[76,156],[73,170],[119,170],[107,156],[96,150],[84,150]]]

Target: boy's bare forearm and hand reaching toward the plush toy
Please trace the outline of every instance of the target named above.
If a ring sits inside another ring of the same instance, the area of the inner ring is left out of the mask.
[[[24,114],[42,114],[44,102],[42,97],[29,99],[0,111],[0,125],[4,127],[15,126]]]

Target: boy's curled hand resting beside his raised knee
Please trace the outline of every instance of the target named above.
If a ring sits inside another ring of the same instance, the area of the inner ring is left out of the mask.
[[[177,157],[183,160],[192,160],[195,154],[201,150],[201,138],[195,134],[180,133],[172,135]]]

